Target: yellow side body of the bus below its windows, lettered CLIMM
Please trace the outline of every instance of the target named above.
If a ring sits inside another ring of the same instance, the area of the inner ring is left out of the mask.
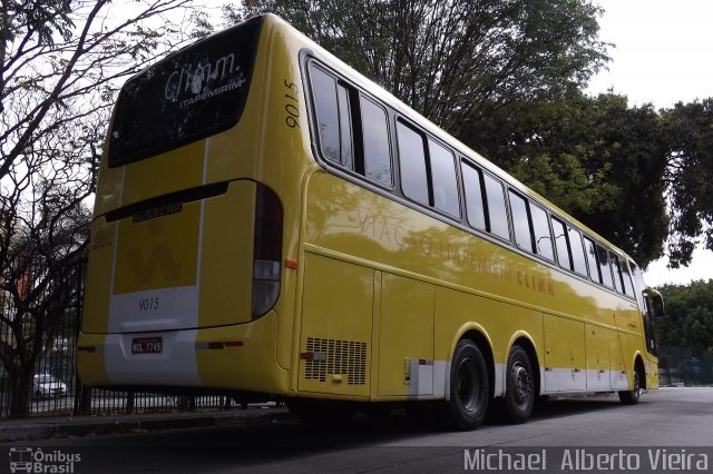
[[[363,320],[373,318],[379,335],[371,344],[371,350],[378,352],[378,357],[372,355],[378,361],[372,367],[379,384],[371,388],[373,399],[442,397],[443,391],[419,392],[410,386],[411,361],[426,366],[419,379],[422,386],[442,386],[446,375],[438,367],[446,366],[453,350],[442,343],[469,320],[487,328],[496,371],[507,363],[512,335],[518,330],[531,335],[536,352],[544,348],[537,361],[544,369],[543,393],[621,387],[612,385],[618,381],[619,367],[611,362],[611,353],[633,354],[633,343],[619,348],[617,328],[641,332],[633,323],[635,305],[332,175],[312,175],[306,192],[305,243],[311,251],[330,258],[335,268],[360,265],[382,271],[378,309],[363,312]],[[305,280],[307,292],[319,292],[313,289],[315,280]],[[374,296],[369,286],[362,289],[362,297],[371,302]],[[416,288],[419,296],[414,296]],[[344,296],[344,300],[355,299]],[[349,325],[331,320],[325,312],[311,309],[303,305],[301,350],[307,350],[305,328],[311,325],[333,327],[336,333],[343,328],[336,338],[352,333]],[[418,324],[407,324],[411,322]],[[433,330],[432,338],[424,336],[428,330]],[[400,332],[410,336],[399,338]],[[314,384],[310,386],[316,391]],[[504,375],[498,373],[496,395],[504,389]],[[323,384],[319,392],[332,393],[332,388]]]

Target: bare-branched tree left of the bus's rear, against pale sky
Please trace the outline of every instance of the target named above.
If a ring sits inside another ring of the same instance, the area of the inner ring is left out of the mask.
[[[84,257],[97,161],[119,81],[188,36],[167,14],[187,0],[3,1],[0,6],[0,314],[12,415]],[[183,17],[180,17],[183,18]]]

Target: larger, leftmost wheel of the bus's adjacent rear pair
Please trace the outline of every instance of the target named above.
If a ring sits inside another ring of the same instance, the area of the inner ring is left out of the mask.
[[[478,346],[463,339],[456,346],[450,366],[448,417],[458,429],[475,429],[488,411],[488,369]]]

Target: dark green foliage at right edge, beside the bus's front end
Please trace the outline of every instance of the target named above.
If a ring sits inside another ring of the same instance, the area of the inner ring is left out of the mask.
[[[658,288],[666,305],[657,320],[661,346],[713,350],[713,279]]]

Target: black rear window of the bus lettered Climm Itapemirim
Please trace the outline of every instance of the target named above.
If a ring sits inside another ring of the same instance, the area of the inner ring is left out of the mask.
[[[250,87],[260,19],[168,56],[121,88],[109,134],[114,168],[227,130]]]

